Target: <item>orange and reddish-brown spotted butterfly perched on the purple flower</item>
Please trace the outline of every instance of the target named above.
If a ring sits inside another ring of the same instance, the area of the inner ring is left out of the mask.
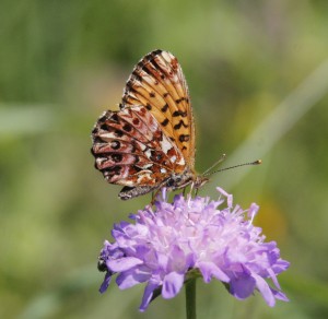
[[[92,131],[95,167],[128,200],[165,187],[208,181],[195,172],[195,122],[177,59],[154,50],[134,67],[119,110],[106,110]]]

